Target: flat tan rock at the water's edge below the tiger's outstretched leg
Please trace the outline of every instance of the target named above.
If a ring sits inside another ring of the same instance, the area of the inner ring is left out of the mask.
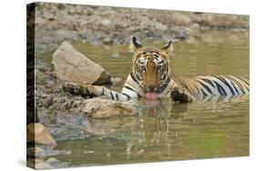
[[[128,102],[117,102],[102,98],[87,99],[84,112],[87,113],[87,116],[93,118],[138,115],[137,109]]]

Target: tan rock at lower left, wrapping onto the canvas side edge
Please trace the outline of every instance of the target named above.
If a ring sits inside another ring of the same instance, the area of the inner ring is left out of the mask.
[[[54,138],[46,127],[40,123],[31,123],[26,126],[26,142],[42,145],[56,146]]]

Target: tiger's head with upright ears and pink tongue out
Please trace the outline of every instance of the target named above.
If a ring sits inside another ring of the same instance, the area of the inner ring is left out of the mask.
[[[132,73],[144,93],[160,94],[169,82],[169,53],[173,51],[172,41],[162,48],[142,46],[132,36],[130,51],[134,53]]]

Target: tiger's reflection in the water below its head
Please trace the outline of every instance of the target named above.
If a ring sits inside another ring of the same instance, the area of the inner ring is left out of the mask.
[[[146,109],[143,110],[133,124],[132,131],[143,132],[144,141],[159,141],[168,132],[169,117],[174,117],[176,122],[188,111],[188,104],[169,103],[170,106],[163,105],[161,100],[146,100]]]

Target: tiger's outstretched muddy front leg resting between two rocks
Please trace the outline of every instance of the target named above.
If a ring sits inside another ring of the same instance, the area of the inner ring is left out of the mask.
[[[111,100],[117,101],[128,101],[130,99],[129,96],[125,96],[116,91],[109,90],[104,86],[98,85],[81,85],[77,83],[66,83],[63,85],[64,90],[73,94],[73,95],[81,95],[86,97],[96,97],[96,96],[104,96]]]

